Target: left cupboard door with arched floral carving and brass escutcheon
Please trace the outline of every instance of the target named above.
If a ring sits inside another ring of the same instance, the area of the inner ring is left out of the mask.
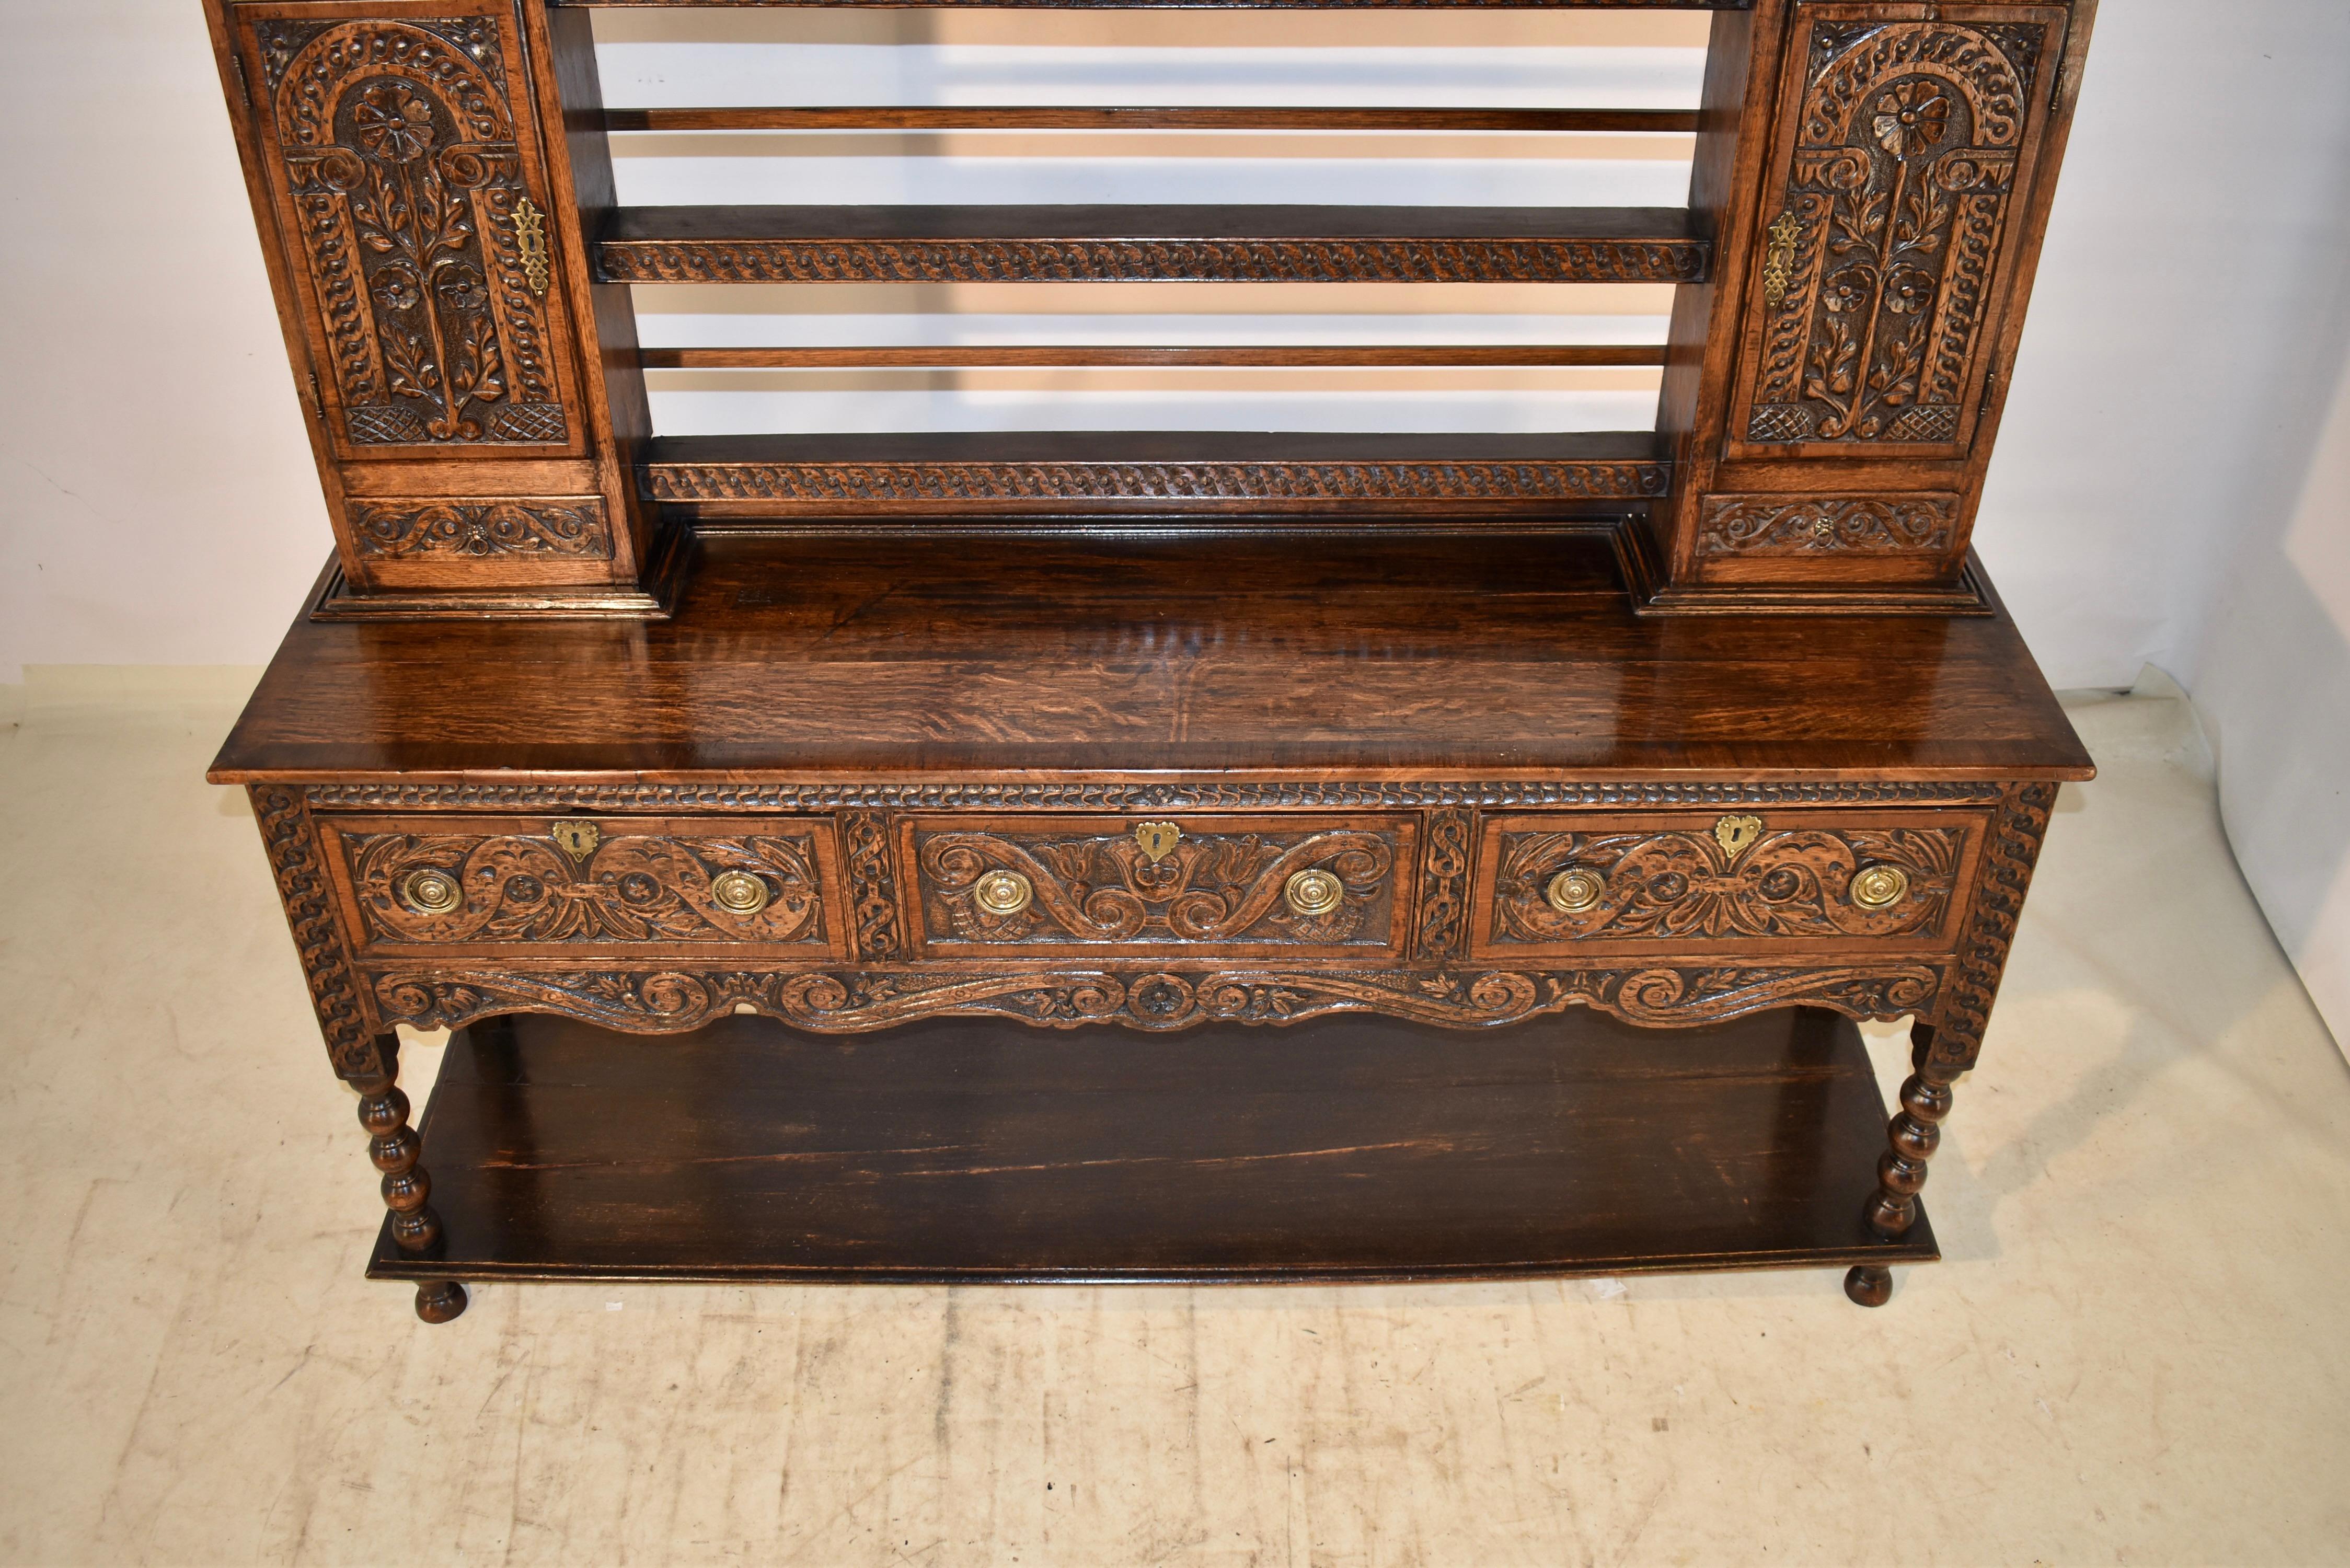
[[[512,0],[226,19],[331,451],[585,451]]]

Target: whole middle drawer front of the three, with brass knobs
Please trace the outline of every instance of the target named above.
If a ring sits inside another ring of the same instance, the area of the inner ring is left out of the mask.
[[[1417,818],[907,818],[909,914],[933,954],[1398,957]]]

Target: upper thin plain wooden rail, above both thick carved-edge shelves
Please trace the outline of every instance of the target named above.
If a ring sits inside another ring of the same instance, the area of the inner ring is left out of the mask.
[[[1697,132],[1680,108],[606,108],[611,132]]]

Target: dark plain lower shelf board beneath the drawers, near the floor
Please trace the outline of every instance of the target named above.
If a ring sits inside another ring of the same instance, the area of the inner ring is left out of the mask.
[[[1939,1258],[1864,1211],[1859,1030],[1574,1011],[1184,1034],[766,1018],[458,1032],[425,1107],[442,1239],[378,1279],[1379,1281]]]

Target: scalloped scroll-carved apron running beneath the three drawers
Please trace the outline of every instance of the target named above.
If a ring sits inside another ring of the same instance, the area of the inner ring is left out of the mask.
[[[1772,1006],[1824,1006],[1852,1018],[1920,1013],[1941,985],[1932,964],[1626,966],[1504,971],[1034,969],[1018,973],[773,973],[686,969],[439,969],[374,973],[385,1018],[458,1027],[512,1011],[562,1013],[613,1030],[674,1034],[726,1013],[764,1013],[801,1030],[862,1032],[938,1016],[1001,1016],[1036,1027],[1203,1023],[1283,1025],[1325,1013],[1386,1013],[1483,1030],[1570,1006],[1626,1023],[1690,1025]]]

